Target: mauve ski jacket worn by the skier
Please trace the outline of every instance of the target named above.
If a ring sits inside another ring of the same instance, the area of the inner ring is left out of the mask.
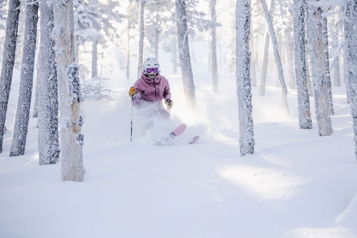
[[[140,105],[142,101],[161,102],[162,99],[171,99],[170,86],[167,79],[157,73],[155,79],[151,79],[145,75],[143,71],[141,77],[134,83],[136,97],[134,104]]]

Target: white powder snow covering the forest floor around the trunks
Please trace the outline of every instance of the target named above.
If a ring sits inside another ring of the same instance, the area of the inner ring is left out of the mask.
[[[285,114],[281,89],[271,86],[277,74],[268,72],[265,96],[252,87],[255,151],[241,157],[234,72],[221,71],[214,94],[207,64],[194,63],[197,111],[189,112],[181,77],[170,75],[169,56],[161,57],[174,101],[170,121],[144,135],[134,110],[130,142],[127,93],[136,79],[119,80],[124,71],[108,76],[115,101],[81,105],[83,182],[61,181],[61,162],[38,165],[35,118],[25,154],[9,157],[14,74],[0,153],[1,238],[357,238],[357,163],[344,84],[333,87],[333,133],[320,137],[314,110],[312,130],[299,129],[294,90]],[[187,129],[173,145],[154,145],[181,123]],[[195,135],[197,144],[187,145]]]

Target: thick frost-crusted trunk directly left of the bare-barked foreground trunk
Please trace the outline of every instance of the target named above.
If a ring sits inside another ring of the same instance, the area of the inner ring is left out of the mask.
[[[40,68],[39,68],[39,164],[55,164],[59,160],[58,89],[55,63],[52,0],[40,1]]]

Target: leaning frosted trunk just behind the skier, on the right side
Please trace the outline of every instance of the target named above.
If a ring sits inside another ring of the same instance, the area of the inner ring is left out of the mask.
[[[182,72],[183,92],[189,107],[196,107],[191,56],[188,46],[187,8],[184,0],[176,0],[176,26],[179,43],[179,59]]]

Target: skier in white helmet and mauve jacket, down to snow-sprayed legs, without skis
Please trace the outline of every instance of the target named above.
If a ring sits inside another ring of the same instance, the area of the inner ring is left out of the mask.
[[[173,106],[168,80],[160,74],[158,61],[147,58],[143,62],[141,76],[129,89],[129,96],[134,100],[135,107],[145,110],[147,117],[169,118],[169,110]],[[165,100],[166,109],[162,100]]]

